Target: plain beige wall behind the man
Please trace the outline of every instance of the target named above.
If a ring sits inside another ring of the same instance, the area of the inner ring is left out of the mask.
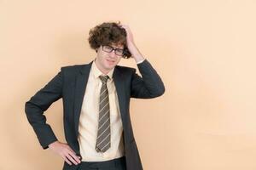
[[[0,0],[0,169],[61,169],[24,104],[61,66],[94,59],[88,31],[116,20],[166,85],[160,98],[131,101],[144,169],[256,169],[255,8],[254,0]],[[64,141],[61,100],[46,115]]]

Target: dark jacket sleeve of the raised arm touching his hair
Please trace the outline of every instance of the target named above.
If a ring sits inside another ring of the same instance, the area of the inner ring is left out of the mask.
[[[147,59],[137,64],[137,67],[142,77],[137,75],[136,70],[132,71],[132,98],[150,99],[165,93],[164,83]]]

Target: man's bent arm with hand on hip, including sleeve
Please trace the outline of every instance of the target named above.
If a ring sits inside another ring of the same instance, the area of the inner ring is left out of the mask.
[[[60,71],[50,82],[40,89],[37,94],[26,102],[25,112],[28,122],[32,125],[38,140],[44,149],[49,148],[61,156],[69,165],[79,164],[79,156],[69,147],[55,137],[55,133],[46,123],[44,111],[56,100],[62,97],[63,75]]]

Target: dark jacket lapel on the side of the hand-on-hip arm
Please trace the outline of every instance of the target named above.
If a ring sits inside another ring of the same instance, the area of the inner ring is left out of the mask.
[[[88,65],[84,65],[79,71],[78,76],[76,77],[76,88],[74,96],[74,126],[76,136],[78,136],[79,133],[79,117],[82,103],[84,100],[84,93],[86,89],[86,84],[88,82],[91,64],[92,62],[90,62]]]

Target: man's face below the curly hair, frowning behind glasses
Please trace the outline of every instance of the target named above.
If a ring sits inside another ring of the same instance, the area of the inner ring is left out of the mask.
[[[124,45],[112,44],[111,47],[123,49]],[[103,51],[101,46],[97,49],[96,66],[104,74],[108,74],[108,72],[111,71],[115,67],[115,65],[119,64],[121,58],[122,56],[115,54],[114,50],[108,53]]]

